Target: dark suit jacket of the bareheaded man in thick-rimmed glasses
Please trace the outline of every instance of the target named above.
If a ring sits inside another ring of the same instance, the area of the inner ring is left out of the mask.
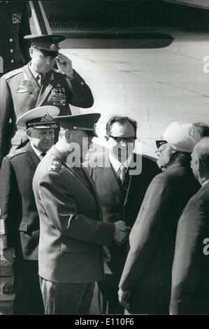
[[[107,223],[121,220],[132,228],[145,192],[153,177],[159,174],[156,163],[143,155],[134,153],[127,172],[129,177],[127,190],[124,190],[115,170],[110,165],[108,153],[97,159],[96,166],[94,164],[95,155],[84,166],[87,167],[87,171],[96,185],[103,211],[103,220]],[[135,166],[138,167],[138,172],[134,172]],[[111,259],[108,266],[117,276],[122,273],[127,248],[129,248],[127,244],[117,246],[115,241],[110,246]]]

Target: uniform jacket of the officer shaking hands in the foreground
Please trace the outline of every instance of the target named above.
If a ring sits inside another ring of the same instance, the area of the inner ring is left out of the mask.
[[[94,182],[82,168],[69,167],[55,146],[34,175],[40,217],[39,275],[62,283],[103,279],[102,245],[115,225],[103,223]]]

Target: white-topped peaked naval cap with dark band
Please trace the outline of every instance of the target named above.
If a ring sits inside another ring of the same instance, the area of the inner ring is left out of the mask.
[[[34,127],[37,129],[57,128],[56,122],[52,117],[58,114],[59,109],[56,106],[41,106],[22,114],[17,119],[16,124],[22,127]]]

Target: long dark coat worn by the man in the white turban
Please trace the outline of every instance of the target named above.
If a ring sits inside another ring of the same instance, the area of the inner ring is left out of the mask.
[[[178,163],[150,183],[120,280],[120,288],[131,291],[132,313],[168,314],[178,219],[198,189],[192,170]]]

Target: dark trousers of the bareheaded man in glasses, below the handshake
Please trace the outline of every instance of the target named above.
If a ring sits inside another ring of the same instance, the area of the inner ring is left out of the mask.
[[[117,295],[119,281],[120,279],[114,274],[106,274],[106,279],[98,282],[101,314],[124,314],[124,307],[120,304]]]

